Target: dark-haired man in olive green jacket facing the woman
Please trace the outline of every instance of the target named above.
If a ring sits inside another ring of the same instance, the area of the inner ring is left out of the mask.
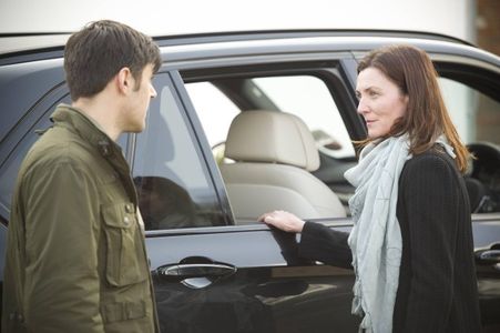
[[[151,38],[113,21],[72,34],[72,105],[32,147],[16,185],[2,332],[157,332],[137,195],[115,140],[141,132],[161,65]]]

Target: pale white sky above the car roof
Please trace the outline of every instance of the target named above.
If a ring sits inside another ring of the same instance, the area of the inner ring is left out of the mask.
[[[378,28],[473,41],[475,6],[475,0],[0,0],[0,32],[74,31],[113,19],[149,34]]]

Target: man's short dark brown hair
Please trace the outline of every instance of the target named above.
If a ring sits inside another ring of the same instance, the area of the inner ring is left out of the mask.
[[[153,73],[162,63],[153,40],[110,20],[89,23],[70,37],[64,49],[64,70],[73,101],[101,92],[124,67],[131,70],[139,89],[142,71],[150,63]]]

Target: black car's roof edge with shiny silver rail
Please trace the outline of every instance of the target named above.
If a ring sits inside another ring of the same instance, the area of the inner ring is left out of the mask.
[[[69,32],[0,34],[0,64],[63,57]],[[347,51],[355,57],[391,43],[412,43],[427,52],[461,54],[496,67],[500,58],[473,44],[433,32],[367,29],[300,29],[253,30],[156,36],[153,39],[162,50],[164,60],[175,61],[224,58],[236,54],[271,54],[273,52],[331,52]]]

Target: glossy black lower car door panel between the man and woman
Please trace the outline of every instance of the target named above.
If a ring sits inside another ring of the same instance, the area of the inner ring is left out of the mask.
[[[150,236],[146,244],[166,332],[353,332],[359,324],[350,314],[353,272],[299,259],[293,234],[212,228]],[[186,263],[225,271],[165,279],[157,270]]]

